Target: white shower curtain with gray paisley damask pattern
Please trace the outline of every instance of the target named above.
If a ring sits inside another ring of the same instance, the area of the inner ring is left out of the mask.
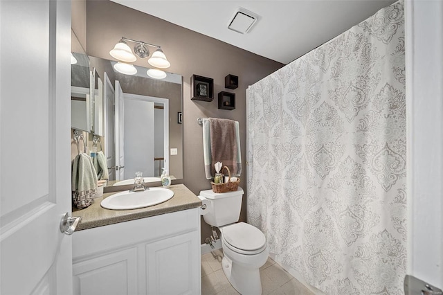
[[[326,294],[404,294],[404,5],[246,91],[248,222]]]

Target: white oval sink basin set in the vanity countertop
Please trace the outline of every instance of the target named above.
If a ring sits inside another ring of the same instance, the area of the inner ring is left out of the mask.
[[[129,210],[154,206],[168,201],[174,192],[168,188],[150,188],[140,192],[126,190],[104,199],[100,205],[111,210]]]

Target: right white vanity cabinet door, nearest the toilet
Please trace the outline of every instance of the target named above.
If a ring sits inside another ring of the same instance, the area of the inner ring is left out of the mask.
[[[200,294],[199,232],[146,245],[148,294]]]

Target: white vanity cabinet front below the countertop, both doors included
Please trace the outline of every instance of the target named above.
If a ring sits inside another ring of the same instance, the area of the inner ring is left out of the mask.
[[[201,294],[198,208],[73,234],[73,294]]]

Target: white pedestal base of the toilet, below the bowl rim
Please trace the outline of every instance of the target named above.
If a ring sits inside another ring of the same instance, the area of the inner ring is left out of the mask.
[[[230,285],[232,285],[239,294],[262,294],[260,269],[242,267],[242,265],[233,263],[226,255],[224,255],[223,260],[221,260],[221,266]]]

